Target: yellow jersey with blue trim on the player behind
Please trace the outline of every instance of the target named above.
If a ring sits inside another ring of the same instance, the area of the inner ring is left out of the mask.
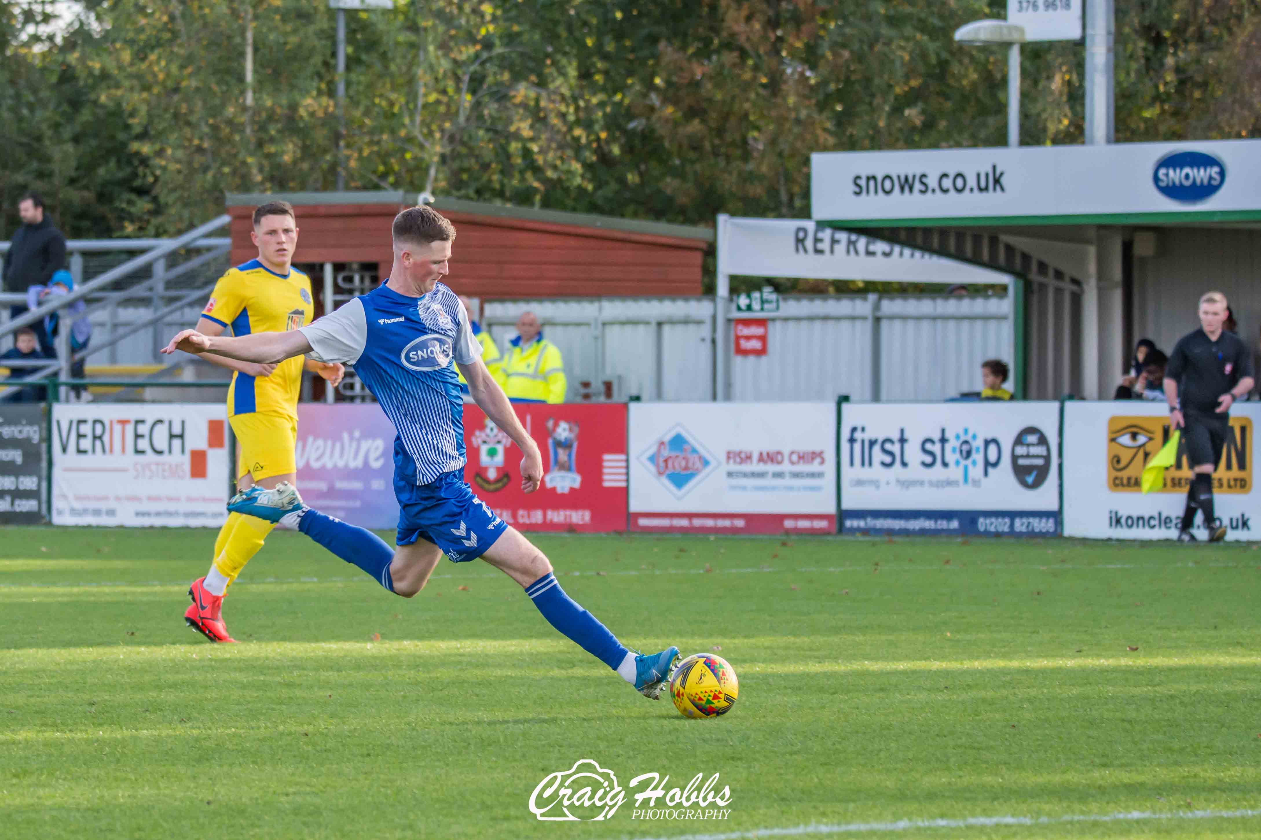
[[[277,275],[257,259],[228,268],[202,310],[202,317],[222,324],[236,336],[296,330],[310,324],[313,314],[310,277],[296,268]],[[285,359],[264,378],[233,373],[228,417],[257,412],[296,421],[303,361],[303,356]]]

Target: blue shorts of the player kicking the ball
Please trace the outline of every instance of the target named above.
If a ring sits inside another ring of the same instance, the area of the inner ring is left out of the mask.
[[[433,543],[455,563],[475,560],[507,530],[484,501],[473,495],[463,470],[438,476],[433,484],[414,485],[395,472],[398,497],[398,545],[417,539]]]

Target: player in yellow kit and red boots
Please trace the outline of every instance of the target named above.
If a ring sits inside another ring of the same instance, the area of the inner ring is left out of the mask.
[[[311,321],[311,281],[293,267],[298,246],[298,220],[288,201],[270,201],[253,212],[250,238],[259,247],[257,259],[230,268],[202,310],[197,331],[203,335],[280,332]],[[298,443],[298,393],[303,370],[311,370],[335,387],[346,373],[339,364],[301,356],[280,364],[237,361],[203,354],[214,364],[233,370],[228,387],[228,423],[237,438],[237,489],[257,484],[271,489],[281,481],[295,484]],[[188,589],[193,606],[184,621],[212,642],[233,642],[223,623],[223,596],[250,562],[271,529],[271,523],[253,516],[228,514],[214,540],[211,570]]]

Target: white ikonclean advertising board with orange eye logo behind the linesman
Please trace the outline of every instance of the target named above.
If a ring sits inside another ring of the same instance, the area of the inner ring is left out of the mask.
[[[1255,540],[1261,494],[1253,491],[1252,458],[1261,406],[1231,408],[1229,434],[1213,474],[1214,514],[1229,529],[1227,539]],[[1192,471],[1185,443],[1164,486],[1141,490],[1142,468],[1169,440],[1164,403],[1112,402],[1064,404],[1064,536],[1174,539],[1187,504]],[[1203,518],[1195,531],[1204,536]]]

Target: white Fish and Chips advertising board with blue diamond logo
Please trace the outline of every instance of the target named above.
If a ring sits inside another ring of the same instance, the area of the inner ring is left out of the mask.
[[[632,403],[630,530],[832,534],[835,403]]]

